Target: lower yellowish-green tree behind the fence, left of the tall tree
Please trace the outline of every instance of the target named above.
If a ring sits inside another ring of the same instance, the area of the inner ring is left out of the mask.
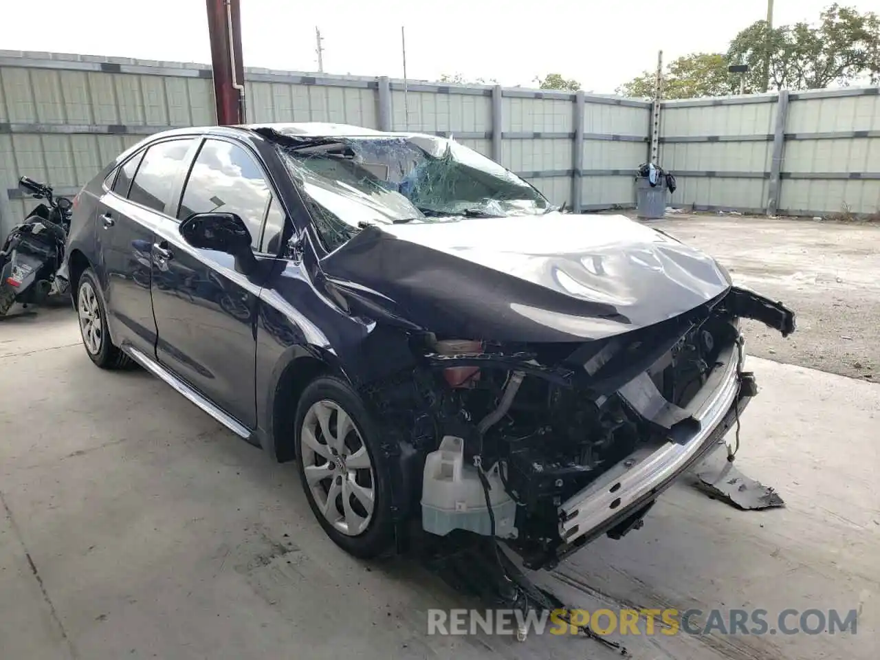
[[[738,79],[727,72],[727,60],[721,53],[692,53],[670,62],[664,72],[664,99],[693,99],[698,96],[729,94]],[[653,99],[656,73],[645,71],[641,76],[620,85],[621,96]]]

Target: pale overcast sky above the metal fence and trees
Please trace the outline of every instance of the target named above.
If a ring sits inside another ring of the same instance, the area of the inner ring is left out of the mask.
[[[766,0],[240,0],[245,66],[402,77],[444,73],[534,86],[548,72],[613,92],[642,70],[694,51],[724,51],[765,18]],[[775,0],[774,24],[812,21],[832,0]],[[880,0],[842,2],[880,10]],[[39,6],[39,15],[35,9]],[[204,0],[4,3],[0,48],[210,62]]]

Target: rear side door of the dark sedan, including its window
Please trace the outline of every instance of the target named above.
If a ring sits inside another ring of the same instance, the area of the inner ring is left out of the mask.
[[[153,356],[156,323],[150,297],[156,224],[165,217],[176,180],[196,138],[152,143],[117,168],[98,203],[99,277],[117,345]]]

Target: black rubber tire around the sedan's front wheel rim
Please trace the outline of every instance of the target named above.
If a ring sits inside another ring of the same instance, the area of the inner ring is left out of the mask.
[[[312,488],[306,481],[303,461],[302,431],[305,416],[309,409],[319,401],[331,401],[341,407],[354,422],[363,446],[370,457],[371,479],[374,502],[372,516],[363,532],[349,536],[339,532],[319,509]],[[320,376],[308,385],[297,405],[297,416],[294,425],[297,447],[297,471],[303,486],[305,497],[309,501],[312,513],[324,528],[327,536],[348,554],[360,559],[372,559],[384,554],[392,545],[393,524],[391,511],[391,487],[387,476],[387,459],[378,442],[378,427],[370,413],[363,405],[363,400],[351,387],[340,378]]]

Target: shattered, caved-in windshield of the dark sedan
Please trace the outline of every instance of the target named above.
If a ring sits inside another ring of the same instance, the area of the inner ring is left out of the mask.
[[[516,174],[443,137],[316,138],[279,149],[331,249],[368,224],[539,215],[550,208]]]

